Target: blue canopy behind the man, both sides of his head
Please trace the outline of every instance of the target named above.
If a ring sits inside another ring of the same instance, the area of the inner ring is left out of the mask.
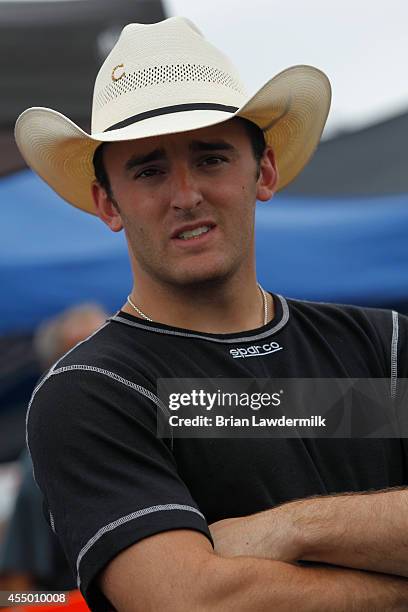
[[[69,305],[123,303],[123,233],[67,205],[29,170],[0,180],[0,334],[30,332]],[[408,195],[278,195],[257,210],[258,276],[268,289],[360,305],[408,302]]]

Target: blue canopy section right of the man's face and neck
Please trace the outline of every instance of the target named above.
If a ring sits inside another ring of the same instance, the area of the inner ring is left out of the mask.
[[[277,197],[258,205],[258,274],[307,300],[408,302],[408,195]]]

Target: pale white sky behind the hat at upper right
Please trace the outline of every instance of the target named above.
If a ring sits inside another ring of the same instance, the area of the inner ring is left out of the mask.
[[[408,111],[407,0],[164,0],[233,60],[249,92],[312,64],[333,87],[327,133]],[[408,137],[408,134],[407,134]]]

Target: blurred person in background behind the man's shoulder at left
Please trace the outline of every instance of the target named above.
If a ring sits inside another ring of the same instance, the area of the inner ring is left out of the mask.
[[[33,344],[40,367],[57,359],[95,332],[107,318],[97,304],[68,308],[42,323]],[[44,517],[43,496],[33,478],[27,450],[20,458],[21,484],[13,513],[0,538],[0,590],[72,590],[75,579],[55,534]]]

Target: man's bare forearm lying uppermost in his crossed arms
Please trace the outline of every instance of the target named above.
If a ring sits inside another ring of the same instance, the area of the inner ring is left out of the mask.
[[[290,502],[210,526],[215,550],[408,577],[408,490]]]

